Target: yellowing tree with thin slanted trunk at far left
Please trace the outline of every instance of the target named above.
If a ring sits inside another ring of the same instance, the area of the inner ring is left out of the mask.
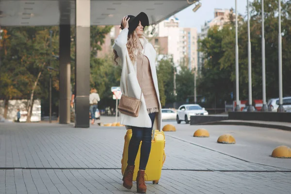
[[[3,87],[5,102],[13,98],[26,98],[28,100],[28,122],[32,112],[34,92],[39,92],[41,86],[37,83],[41,78],[42,71],[49,62],[48,44],[49,28],[48,27],[7,27],[9,40],[3,41],[5,44],[4,55],[1,55],[3,74],[9,75],[9,85]],[[5,32],[3,31],[3,32]],[[5,43],[6,42],[6,43]],[[7,44],[9,43],[9,44]],[[1,70],[2,70],[1,69]],[[5,76],[1,76],[5,78]],[[7,76],[6,76],[7,78]],[[17,94],[7,95],[17,91]],[[12,90],[14,88],[14,90]],[[41,93],[41,92],[40,92]]]

